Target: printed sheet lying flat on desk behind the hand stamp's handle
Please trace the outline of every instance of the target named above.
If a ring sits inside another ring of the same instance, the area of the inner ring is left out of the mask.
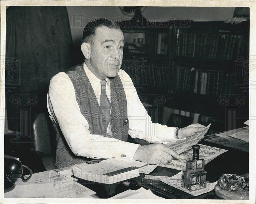
[[[211,161],[212,159],[214,159],[215,157],[217,157],[218,155],[220,155],[226,151],[228,151],[228,150],[200,144],[199,158],[204,159],[205,164],[207,164],[209,161]],[[168,164],[163,164],[160,166],[185,171],[186,170],[186,162],[189,160],[192,160],[192,159],[193,159],[193,149],[189,149],[180,154],[180,159],[173,160],[172,162],[170,162]],[[197,167],[198,168],[202,167],[201,161],[197,162]]]

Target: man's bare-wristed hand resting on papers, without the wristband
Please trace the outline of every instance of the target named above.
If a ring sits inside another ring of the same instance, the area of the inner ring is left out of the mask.
[[[137,161],[148,164],[167,164],[173,160],[173,157],[179,159],[177,152],[162,143],[139,146],[133,156]]]

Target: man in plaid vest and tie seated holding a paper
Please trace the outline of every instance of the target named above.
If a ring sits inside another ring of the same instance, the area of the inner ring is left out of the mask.
[[[173,157],[179,159],[179,154],[161,142],[205,130],[200,124],[178,129],[151,122],[131,78],[120,69],[123,46],[124,35],[115,22],[93,20],[83,32],[84,62],[51,79],[47,105],[58,133],[57,167],[89,158],[167,164]],[[155,143],[129,143],[128,134]]]

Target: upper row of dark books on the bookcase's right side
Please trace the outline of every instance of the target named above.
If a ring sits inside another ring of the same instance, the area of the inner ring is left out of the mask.
[[[230,60],[243,55],[242,35],[182,33],[177,29],[175,36],[176,56]]]

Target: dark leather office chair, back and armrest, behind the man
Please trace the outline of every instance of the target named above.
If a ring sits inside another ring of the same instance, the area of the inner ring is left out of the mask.
[[[34,147],[27,152],[27,165],[33,173],[56,169],[55,131],[48,114],[37,114],[31,127]]]

